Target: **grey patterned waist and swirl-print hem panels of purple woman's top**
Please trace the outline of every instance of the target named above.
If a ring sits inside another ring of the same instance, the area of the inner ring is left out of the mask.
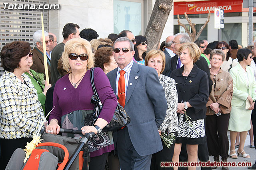
[[[92,120],[92,110],[76,110],[63,115],[61,117],[61,125],[64,129],[80,130],[84,126],[84,122],[90,122]],[[80,135],[62,133],[63,136],[79,137]],[[88,141],[89,152],[93,152],[102,149],[106,146],[114,144],[111,131],[101,132],[96,134],[92,139]]]

